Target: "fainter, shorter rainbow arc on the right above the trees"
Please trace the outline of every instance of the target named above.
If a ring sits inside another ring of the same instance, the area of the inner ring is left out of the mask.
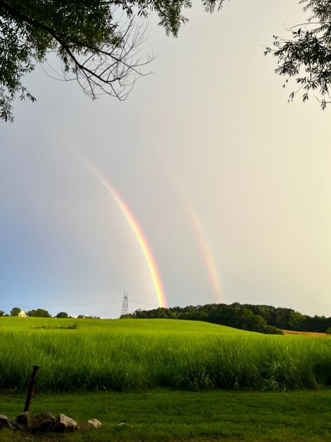
[[[221,301],[221,282],[219,280],[218,273],[216,271],[216,266],[214,263],[214,259],[212,257],[212,252],[210,251],[209,245],[205,239],[205,235],[203,234],[203,227],[201,226],[197,215],[193,212],[191,205],[189,202],[182,197],[184,201],[184,205],[186,208],[186,212],[189,216],[189,220],[191,222],[192,229],[196,235],[198,245],[201,250],[201,254],[203,255],[203,260],[205,262],[205,266],[207,269],[207,273],[209,275],[209,279],[212,283],[212,289],[216,298],[216,301]]]

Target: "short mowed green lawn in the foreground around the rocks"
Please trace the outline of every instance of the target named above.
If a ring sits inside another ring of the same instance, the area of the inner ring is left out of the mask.
[[[0,413],[22,411],[25,395],[1,393]],[[93,432],[65,436],[0,430],[11,441],[224,441],[319,442],[331,440],[331,390],[293,392],[41,393],[31,412],[64,413],[77,422],[101,420]]]

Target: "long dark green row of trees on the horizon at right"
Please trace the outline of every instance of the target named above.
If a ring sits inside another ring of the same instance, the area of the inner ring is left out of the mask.
[[[228,327],[267,334],[279,334],[281,329],[324,333],[331,327],[331,318],[302,315],[292,308],[252,304],[205,304],[154,310],[136,310],[130,318],[168,318],[214,322]]]

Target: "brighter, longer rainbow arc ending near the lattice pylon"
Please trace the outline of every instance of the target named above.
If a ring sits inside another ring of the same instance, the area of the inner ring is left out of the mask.
[[[105,176],[103,175],[101,170],[98,169],[98,167],[93,162],[91,162],[91,160],[89,158],[85,157],[82,154],[82,152],[78,152],[78,153],[80,154],[80,157],[82,157],[82,159],[84,159],[84,162],[87,163],[91,172],[94,173],[94,175],[96,176],[96,178],[98,178],[98,180],[103,185],[103,187],[105,187],[105,190],[107,190],[107,192],[111,195],[111,197],[116,201],[117,206],[119,206],[119,208],[121,209],[124,217],[126,218],[129,226],[131,227],[131,229],[133,231],[133,234],[135,234],[135,238],[137,238],[137,241],[138,241],[140,248],[142,250],[142,254],[144,255],[144,257],[146,259],[149,273],[152,276],[153,285],[155,287],[156,296],[159,300],[159,304],[161,307],[166,307],[167,301],[165,298],[163,283],[161,280],[159,270],[156,266],[155,259],[152,254],[152,250],[149,247],[149,244],[147,243],[145,235],[143,234],[142,229],[140,228],[137,220],[135,220],[133,213],[130,211],[128,206],[126,206],[123,199],[119,196],[118,192],[116,192],[114,187],[112,187],[112,185],[107,180],[107,178],[105,178]]]

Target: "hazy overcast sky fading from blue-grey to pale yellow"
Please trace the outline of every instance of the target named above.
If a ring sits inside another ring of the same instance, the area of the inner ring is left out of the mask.
[[[38,102],[0,123],[0,309],[118,318],[124,292],[129,311],[155,308],[147,247],[168,306],[331,315],[330,109],[288,104],[263,56],[302,9],[195,3],[178,38],[151,17],[154,74],[124,102],[27,78]]]

